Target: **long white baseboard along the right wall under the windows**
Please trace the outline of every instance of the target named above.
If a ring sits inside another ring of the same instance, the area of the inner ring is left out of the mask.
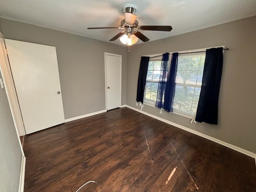
[[[256,163],[256,154],[255,154],[255,153],[252,153],[252,152],[247,151],[247,150],[245,150],[245,149],[239,148],[239,147],[234,146],[234,145],[232,145],[232,144],[226,143],[226,142],[224,142],[224,141],[218,140],[218,139],[216,139],[216,138],[213,138],[213,137],[208,136],[208,135],[206,135],[206,134],[203,134],[203,133],[200,133],[200,132],[198,132],[198,131],[192,130],[192,129],[190,129],[190,128],[184,127],[184,126],[182,126],[182,125],[176,124],[176,123],[174,123],[174,122],[168,121],[168,120],[166,120],[166,119],[160,118],[160,117],[158,117],[158,116],[149,114],[149,113],[144,112],[144,111],[142,111],[142,110],[133,108],[133,107],[131,107],[131,106],[126,105],[126,107],[128,107],[128,108],[130,108],[130,109],[132,109],[132,110],[138,111],[138,112],[140,112],[140,113],[142,113],[142,114],[145,114],[145,115],[147,115],[147,116],[150,116],[150,117],[152,117],[152,118],[155,118],[155,119],[157,119],[157,120],[160,120],[160,121],[162,121],[162,122],[165,122],[165,123],[167,123],[167,124],[170,124],[170,125],[172,125],[172,126],[175,126],[175,127],[180,128],[180,129],[183,129],[183,130],[185,130],[185,131],[188,131],[188,132],[190,132],[190,133],[193,133],[193,134],[196,134],[196,135],[201,136],[201,137],[203,137],[203,138],[206,138],[206,139],[208,139],[208,140],[211,140],[211,141],[213,141],[213,142],[216,142],[216,143],[218,143],[218,144],[221,144],[221,145],[223,145],[223,146],[226,146],[226,147],[228,147],[228,148],[230,148],[230,149],[236,150],[236,151],[238,151],[238,152],[240,152],[240,153],[242,153],[242,154],[246,154],[246,155],[248,155],[248,156],[250,156],[250,157],[252,157],[252,158],[255,158],[255,163]]]

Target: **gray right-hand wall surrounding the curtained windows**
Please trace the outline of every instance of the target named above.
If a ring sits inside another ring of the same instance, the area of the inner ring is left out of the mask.
[[[175,30],[175,27],[174,27]],[[218,125],[190,124],[190,119],[144,106],[143,111],[256,153],[256,16],[132,46],[127,62],[126,104],[136,106],[140,57],[213,46],[224,51]],[[150,36],[149,36],[150,38]]]

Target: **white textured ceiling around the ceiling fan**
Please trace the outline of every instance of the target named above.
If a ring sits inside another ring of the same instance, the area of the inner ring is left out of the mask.
[[[125,4],[138,7],[139,25],[172,26],[141,31],[150,41],[256,15],[256,0],[0,0],[0,16],[109,42],[121,30],[86,28],[120,26]]]

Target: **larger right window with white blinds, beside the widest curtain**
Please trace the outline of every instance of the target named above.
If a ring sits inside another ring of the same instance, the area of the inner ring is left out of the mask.
[[[180,54],[173,108],[195,114],[201,91],[205,53]]]

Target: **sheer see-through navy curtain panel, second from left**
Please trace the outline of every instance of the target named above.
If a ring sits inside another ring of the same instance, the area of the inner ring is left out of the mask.
[[[164,104],[163,95],[164,95],[165,85],[166,85],[167,75],[168,75],[169,55],[170,53],[165,53],[163,54],[163,57],[162,57],[160,78],[159,78],[157,97],[156,97],[156,107],[160,109],[163,108],[163,104]]]

